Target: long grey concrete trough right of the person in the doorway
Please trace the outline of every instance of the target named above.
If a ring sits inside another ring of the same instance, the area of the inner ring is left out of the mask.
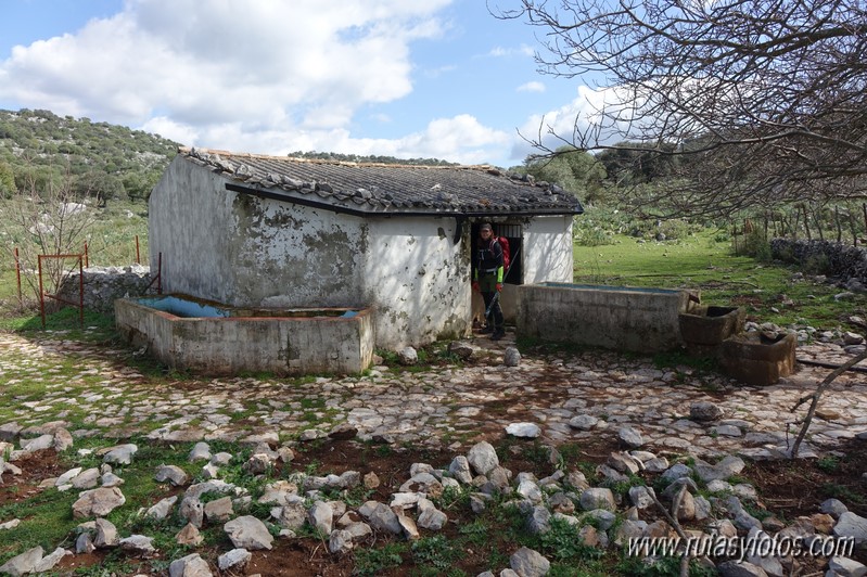
[[[518,287],[518,334],[658,352],[683,345],[679,315],[687,291],[544,282]]]

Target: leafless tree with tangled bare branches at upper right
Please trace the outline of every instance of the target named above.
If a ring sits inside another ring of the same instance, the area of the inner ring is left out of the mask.
[[[545,152],[680,155],[646,198],[678,214],[867,196],[863,0],[489,1],[543,30],[540,72],[611,89]]]

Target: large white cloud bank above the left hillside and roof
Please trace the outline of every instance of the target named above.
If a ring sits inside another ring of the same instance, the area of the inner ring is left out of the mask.
[[[270,152],[273,134],[346,127],[359,107],[409,94],[410,42],[437,37],[451,1],[128,0],[16,47],[0,62],[0,100],[190,144],[255,131],[252,150]]]

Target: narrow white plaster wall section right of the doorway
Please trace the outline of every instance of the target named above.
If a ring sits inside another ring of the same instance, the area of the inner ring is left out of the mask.
[[[572,216],[534,217],[523,232],[524,284],[572,282]]]

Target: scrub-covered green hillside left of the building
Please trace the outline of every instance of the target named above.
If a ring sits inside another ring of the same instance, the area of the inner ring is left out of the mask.
[[[0,196],[68,187],[101,202],[145,198],[178,145],[89,118],[0,111]]]

